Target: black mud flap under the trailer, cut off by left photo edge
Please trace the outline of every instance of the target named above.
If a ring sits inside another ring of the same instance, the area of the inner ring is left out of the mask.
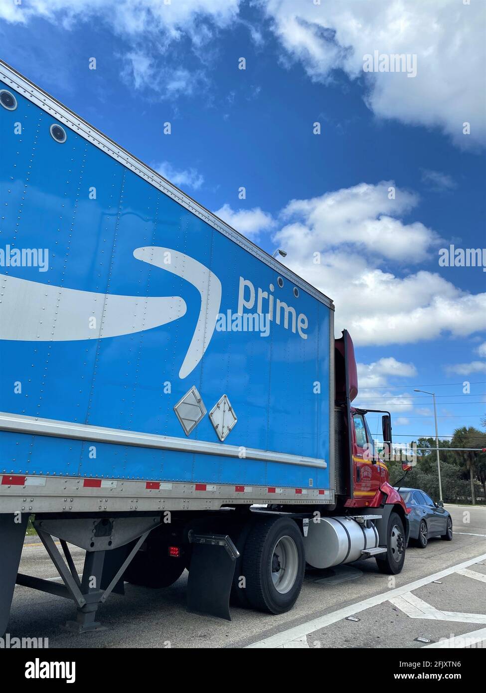
[[[0,514],[0,636],[8,626],[27,522],[28,513]]]

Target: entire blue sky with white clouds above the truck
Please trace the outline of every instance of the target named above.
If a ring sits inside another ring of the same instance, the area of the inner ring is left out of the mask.
[[[0,0],[1,58],[261,247],[286,249],[352,333],[360,403],[389,407],[406,441],[434,430],[414,387],[438,395],[440,435],[486,410],[486,272],[438,262],[450,243],[486,247],[485,8]],[[415,55],[416,76],[365,73],[375,50]]]

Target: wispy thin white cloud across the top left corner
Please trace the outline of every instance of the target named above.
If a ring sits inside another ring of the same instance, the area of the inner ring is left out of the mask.
[[[0,19],[27,24],[42,17],[64,29],[80,22],[101,23],[128,42],[121,76],[135,89],[161,98],[193,94],[205,84],[202,70],[189,71],[177,56],[177,44],[189,38],[191,54],[207,62],[218,30],[238,17],[240,0],[29,0],[0,2]]]

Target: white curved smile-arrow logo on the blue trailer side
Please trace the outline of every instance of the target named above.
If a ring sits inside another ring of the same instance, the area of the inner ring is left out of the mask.
[[[186,378],[209,347],[221,304],[221,282],[205,265],[176,250],[146,246],[136,248],[133,256],[185,279],[200,294],[198,320],[179,371],[179,377]],[[67,342],[119,337],[168,324],[187,310],[180,296],[103,294],[1,273],[0,292],[0,340]],[[21,321],[17,319],[19,308]],[[103,330],[97,329],[100,325]]]

